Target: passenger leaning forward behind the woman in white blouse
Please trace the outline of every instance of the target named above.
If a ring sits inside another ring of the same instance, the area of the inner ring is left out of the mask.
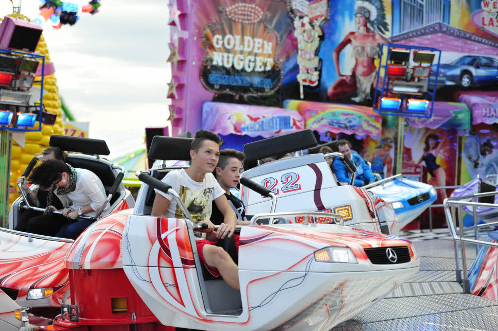
[[[64,161],[66,159],[67,154],[68,153],[66,151],[63,151],[59,147],[48,147],[45,148],[38,155],[43,155],[41,158],[41,162],[46,162],[48,160],[54,160],[54,159]],[[46,209],[49,205],[54,206],[56,209],[64,208],[57,196],[52,196],[52,201],[49,204],[47,204],[50,188],[52,185],[47,187],[38,186],[34,190],[31,190],[28,186],[28,181],[24,176],[17,178],[17,184],[21,184],[21,189],[26,194],[26,197],[28,198],[29,204],[31,206],[43,209]],[[61,198],[64,199],[65,197]],[[25,215],[23,215],[21,219],[17,221],[17,225],[15,226],[14,230],[26,232],[28,228],[28,221],[37,216],[41,216],[40,212],[28,211],[27,213],[25,213]],[[60,217],[61,221],[63,222],[66,221],[66,219],[63,216]],[[36,220],[33,220],[32,222],[36,222]]]

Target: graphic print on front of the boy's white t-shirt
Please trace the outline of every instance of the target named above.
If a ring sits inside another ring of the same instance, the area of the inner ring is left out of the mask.
[[[214,188],[212,187],[208,187],[204,190],[194,190],[180,185],[180,198],[194,221],[209,220],[211,217],[213,191]],[[176,206],[175,217],[184,218],[178,205]]]

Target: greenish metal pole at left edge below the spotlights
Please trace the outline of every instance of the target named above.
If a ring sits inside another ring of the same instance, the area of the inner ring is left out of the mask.
[[[0,130],[0,226],[7,227],[12,133]]]

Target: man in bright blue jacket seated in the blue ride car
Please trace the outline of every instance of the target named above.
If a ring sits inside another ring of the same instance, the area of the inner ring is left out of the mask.
[[[372,169],[363,160],[360,154],[351,153],[351,147],[348,140],[338,140],[332,146],[335,152],[343,153],[345,157],[350,159],[356,166],[356,179],[355,186],[364,186],[370,182],[374,182],[375,178],[372,174]],[[346,169],[346,166],[342,163],[339,158],[334,159],[334,170],[339,182],[349,183],[352,174]]]

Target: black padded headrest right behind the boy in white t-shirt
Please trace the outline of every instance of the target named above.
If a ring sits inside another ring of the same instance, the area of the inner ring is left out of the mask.
[[[190,160],[190,145],[193,138],[165,137],[156,135],[152,138],[149,158],[154,160]]]

